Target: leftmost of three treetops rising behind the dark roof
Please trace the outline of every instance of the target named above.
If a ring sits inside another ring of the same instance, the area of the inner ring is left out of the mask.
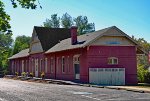
[[[44,27],[59,28],[60,17],[57,17],[57,14],[53,14],[51,15],[51,19],[46,19],[46,22],[44,22],[43,24],[44,24]]]

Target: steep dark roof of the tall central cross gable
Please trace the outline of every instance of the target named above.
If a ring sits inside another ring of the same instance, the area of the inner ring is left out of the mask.
[[[34,27],[35,32],[41,42],[44,51],[52,48],[59,41],[70,38],[70,29],[67,28],[48,28]]]

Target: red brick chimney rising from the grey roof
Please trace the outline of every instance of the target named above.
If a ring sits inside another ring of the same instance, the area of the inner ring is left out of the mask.
[[[71,44],[72,45],[75,45],[75,44],[77,44],[77,27],[76,26],[72,26],[71,27]]]

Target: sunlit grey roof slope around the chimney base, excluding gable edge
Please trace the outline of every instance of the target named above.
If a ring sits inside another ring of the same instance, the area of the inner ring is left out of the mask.
[[[78,43],[75,45],[71,44],[71,38],[62,40],[58,44],[56,44],[54,47],[52,47],[51,49],[46,51],[45,53],[51,53],[51,52],[57,52],[57,51],[63,51],[63,50],[68,50],[68,49],[85,47],[89,43],[91,43],[92,41],[96,40],[99,36],[103,35],[105,32],[107,32],[111,28],[112,27],[108,27],[108,28],[105,28],[105,29],[102,29],[99,31],[80,35],[77,37]]]

